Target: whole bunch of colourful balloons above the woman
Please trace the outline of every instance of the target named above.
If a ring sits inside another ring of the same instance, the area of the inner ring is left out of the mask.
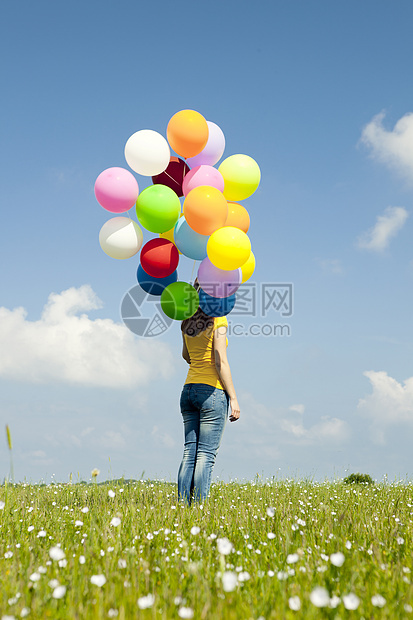
[[[167,139],[143,129],[125,145],[129,167],[152,177],[153,185],[139,192],[136,178],[124,168],[108,168],[96,179],[95,196],[104,209],[120,214],[136,206],[138,220],[112,217],[102,226],[99,242],[116,259],[140,251],[138,282],[147,293],[160,296],[169,318],[189,318],[199,306],[209,316],[225,316],[255,269],[247,236],[250,217],[239,201],[257,189],[260,169],[248,155],[231,155],[216,168],[225,149],[224,134],[194,110],[174,114],[166,133]],[[171,156],[171,149],[178,157]],[[159,236],[143,245],[139,225]],[[180,256],[201,261],[199,292],[178,281]]]

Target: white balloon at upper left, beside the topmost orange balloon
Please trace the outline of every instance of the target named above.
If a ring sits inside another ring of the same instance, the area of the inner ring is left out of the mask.
[[[171,151],[166,139],[152,129],[137,131],[126,142],[125,159],[138,174],[151,177],[168,167]]]

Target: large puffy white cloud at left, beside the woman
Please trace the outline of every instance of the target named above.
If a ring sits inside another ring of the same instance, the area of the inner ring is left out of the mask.
[[[171,376],[169,347],[137,340],[123,324],[85,314],[101,305],[84,285],[52,293],[37,321],[29,321],[24,308],[0,307],[0,378],[133,388]]]

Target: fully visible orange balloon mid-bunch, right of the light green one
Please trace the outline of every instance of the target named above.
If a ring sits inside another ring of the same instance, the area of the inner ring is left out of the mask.
[[[185,198],[184,216],[192,230],[208,236],[225,225],[228,203],[216,187],[199,185]]]

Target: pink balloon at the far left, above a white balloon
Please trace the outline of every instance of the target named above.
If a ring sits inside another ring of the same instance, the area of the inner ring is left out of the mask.
[[[131,209],[138,194],[138,182],[125,168],[107,168],[95,182],[96,200],[111,213],[124,213]]]

